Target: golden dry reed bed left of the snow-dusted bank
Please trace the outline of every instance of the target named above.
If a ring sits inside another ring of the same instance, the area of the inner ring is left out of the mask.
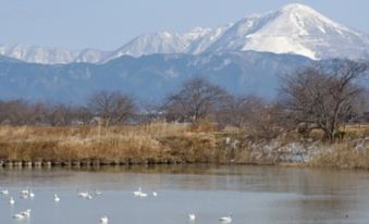
[[[214,135],[188,132],[181,124],[0,126],[2,161],[214,162],[224,160],[219,151]]]

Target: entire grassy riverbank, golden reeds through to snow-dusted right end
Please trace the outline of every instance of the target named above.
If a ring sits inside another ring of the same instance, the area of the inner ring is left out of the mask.
[[[322,142],[313,133],[273,139],[211,125],[157,123],[139,126],[0,126],[0,161],[71,164],[239,163],[297,164],[315,167],[369,169],[368,127],[347,127],[346,139]],[[368,145],[368,146],[367,146]]]

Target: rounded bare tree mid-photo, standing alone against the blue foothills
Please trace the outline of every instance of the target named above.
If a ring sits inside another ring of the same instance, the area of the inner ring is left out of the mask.
[[[179,91],[169,95],[164,108],[176,120],[196,122],[217,110],[227,97],[220,86],[196,77],[185,82]]]

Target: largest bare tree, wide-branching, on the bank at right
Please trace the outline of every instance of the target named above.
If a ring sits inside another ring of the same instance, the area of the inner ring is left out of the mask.
[[[295,124],[316,125],[334,141],[340,124],[355,113],[362,88],[355,84],[366,64],[333,60],[329,66],[315,65],[283,77],[282,104]]]

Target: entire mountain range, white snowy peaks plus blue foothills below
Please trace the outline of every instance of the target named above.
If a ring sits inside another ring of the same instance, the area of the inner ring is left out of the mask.
[[[213,29],[142,35],[111,52],[0,46],[0,99],[82,103],[103,89],[160,100],[194,76],[271,99],[279,74],[333,58],[369,59],[368,35],[288,4]]]

